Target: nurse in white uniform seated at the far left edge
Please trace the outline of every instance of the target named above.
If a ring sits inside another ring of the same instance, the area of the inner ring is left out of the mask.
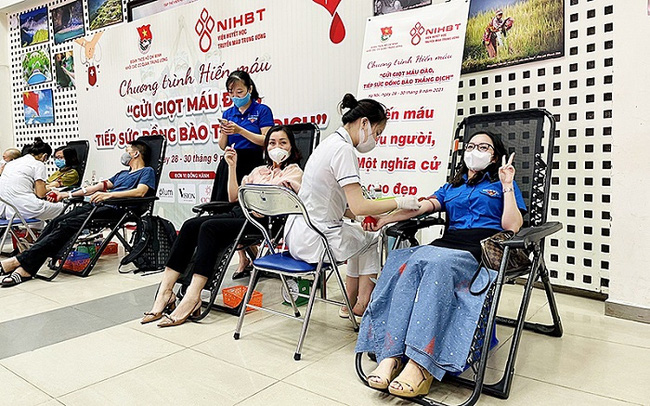
[[[7,163],[0,176],[0,197],[13,204],[25,218],[50,220],[63,211],[63,203],[43,200],[47,193],[45,162],[50,155],[52,147],[36,137],[29,153]],[[9,206],[2,209],[5,218],[13,214]]]

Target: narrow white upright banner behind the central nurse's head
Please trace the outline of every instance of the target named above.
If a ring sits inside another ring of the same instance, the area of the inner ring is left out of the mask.
[[[468,3],[452,1],[368,19],[359,98],[388,109],[377,147],[359,154],[363,186],[428,196],[445,183]]]

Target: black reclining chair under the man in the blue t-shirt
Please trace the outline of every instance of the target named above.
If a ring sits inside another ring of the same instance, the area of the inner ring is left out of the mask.
[[[167,140],[165,137],[160,135],[140,137],[138,140],[146,143],[149,147],[149,159],[148,162],[145,162],[145,164],[146,166],[154,168],[156,174],[157,189],[158,183],[160,181],[160,175],[162,174],[165,150],[167,148]],[[124,209],[124,214],[118,219],[93,218],[93,214],[97,210],[97,207],[99,207],[101,204],[95,206],[95,208],[93,208],[93,210],[88,214],[88,217],[86,218],[83,225],[68,241],[68,244],[59,252],[57,256],[50,259],[49,267],[54,272],[49,276],[37,275],[37,277],[51,281],[61,271],[83,277],[90,275],[90,272],[97,263],[97,260],[102,255],[108,246],[108,243],[111,242],[113,237],[117,237],[117,239],[120,240],[124,246],[124,249],[129,252],[133,248],[133,243],[129,243],[129,241],[126,239],[125,233],[120,233],[119,231],[124,231],[124,226],[127,222],[135,222],[136,225],[140,226],[141,222],[139,219],[145,215],[151,215],[153,213],[154,202],[158,200],[158,197],[156,197],[156,189],[149,190],[147,195],[144,197],[110,199],[106,201],[105,204],[110,204],[111,206],[117,206],[118,208]],[[83,198],[73,198],[70,200],[73,203],[81,203],[83,201]],[[66,259],[70,257],[70,253],[72,253],[72,251],[75,249],[75,246],[77,246],[80,242],[85,242],[90,245],[94,244],[94,238],[92,237],[97,236],[101,233],[102,230],[106,228],[110,228],[108,235],[106,238],[103,238],[99,247],[96,247],[94,254],[90,255],[90,259],[83,267],[83,269],[74,271],[66,269]],[[84,234],[84,232],[88,232],[88,234]],[[138,234],[137,230],[134,235],[135,234]],[[161,254],[164,254],[165,252],[169,253],[170,249],[171,247],[160,247]]]

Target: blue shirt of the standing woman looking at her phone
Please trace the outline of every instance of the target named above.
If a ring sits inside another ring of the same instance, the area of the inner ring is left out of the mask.
[[[239,111],[236,106],[232,106],[223,112],[222,118],[230,120],[238,126],[255,134],[262,133],[262,127],[272,127],[273,113],[271,109],[264,105],[252,101],[245,112]],[[231,134],[228,136],[228,145],[235,144],[235,149],[262,149],[260,145],[250,142],[241,134]]]

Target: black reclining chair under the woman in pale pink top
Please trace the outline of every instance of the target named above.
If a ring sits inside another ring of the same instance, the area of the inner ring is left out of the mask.
[[[318,143],[320,142],[320,130],[318,126],[312,123],[291,124],[288,127],[293,131],[293,134],[296,138],[296,145],[298,146],[298,149],[300,149],[300,152],[302,154],[302,159],[299,165],[301,168],[304,169],[305,164],[307,163],[307,159],[311,155],[314,148],[316,148],[318,146]],[[236,202],[230,203],[230,202],[214,201],[214,194],[217,190],[217,186],[216,186],[217,179],[218,177],[215,177],[215,185],[212,187],[211,201],[208,203],[196,205],[192,208],[192,211],[194,211],[194,213],[197,213],[198,216],[204,214],[212,215],[218,213],[225,213],[232,210],[233,207],[238,205],[238,203]],[[277,237],[282,236],[282,224],[284,224],[283,219],[276,219],[276,221],[274,221],[273,223],[274,227],[273,227],[273,232],[271,237],[276,242],[277,242]],[[255,258],[255,255],[250,250],[250,247],[260,244],[263,240],[263,235],[261,233],[245,234],[244,229],[246,228],[246,225],[247,224],[244,224],[244,226],[242,227],[239,233],[239,236],[233,241],[232,245],[229,245],[222,252],[220,252],[218,256],[219,259],[217,260],[217,263],[215,264],[214,267],[214,271],[210,276],[210,278],[208,279],[208,282],[206,283],[204,288],[204,291],[206,291],[209,294],[209,296],[207,300],[205,300],[203,303],[201,316],[197,318],[193,318],[192,320],[198,321],[203,319],[205,316],[207,316],[210,313],[211,309],[216,309],[233,315],[239,314],[241,309],[241,304],[237,307],[231,308],[227,306],[222,306],[220,304],[215,304],[215,301],[217,299],[217,296],[220,293],[220,288],[221,288],[221,284],[223,283],[223,278],[225,277],[226,271],[228,270],[228,266],[232,261],[232,257],[234,256],[235,251],[246,250],[248,252],[248,255],[251,258]],[[262,251],[258,252],[258,255],[262,255],[262,254],[263,254]],[[189,265],[188,270],[191,267],[192,264]],[[191,275],[184,275],[184,277],[180,279],[179,283],[181,284],[181,287],[178,291],[179,297],[183,296],[190,282],[191,282]]]

